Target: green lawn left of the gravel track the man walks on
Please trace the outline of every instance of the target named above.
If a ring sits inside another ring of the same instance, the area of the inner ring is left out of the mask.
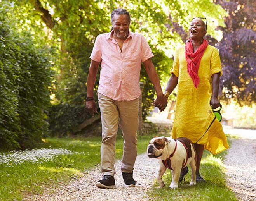
[[[138,137],[138,154],[145,152],[152,136]],[[40,163],[15,160],[0,164],[0,201],[22,200],[23,194],[42,193],[80,177],[101,163],[101,137],[47,138],[40,148],[68,149],[72,154],[58,155]],[[117,137],[116,158],[122,158],[123,139]],[[3,153],[2,153],[3,154]],[[1,157],[1,155],[0,155]]]

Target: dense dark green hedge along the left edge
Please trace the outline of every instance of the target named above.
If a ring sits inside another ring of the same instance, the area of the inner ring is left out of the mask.
[[[15,32],[13,4],[0,5],[0,146],[25,148],[47,134],[53,52]]]

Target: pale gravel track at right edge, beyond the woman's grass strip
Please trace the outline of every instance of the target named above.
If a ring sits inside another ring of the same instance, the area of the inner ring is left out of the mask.
[[[227,184],[240,201],[256,201],[256,131],[224,129],[238,136],[231,139],[231,147],[223,161]]]

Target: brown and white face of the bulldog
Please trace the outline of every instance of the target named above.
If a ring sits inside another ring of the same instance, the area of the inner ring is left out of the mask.
[[[154,137],[148,144],[148,157],[159,158],[167,149],[169,141],[166,137]]]

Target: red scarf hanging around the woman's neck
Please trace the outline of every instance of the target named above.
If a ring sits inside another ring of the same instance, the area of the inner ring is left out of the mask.
[[[186,42],[185,57],[187,60],[187,72],[189,76],[192,78],[195,88],[197,88],[200,81],[198,77],[198,69],[199,69],[201,58],[203,57],[203,54],[204,54],[204,50],[207,48],[207,46],[208,46],[208,41],[204,39],[203,43],[193,53],[194,50],[193,50],[192,42],[190,40]]]

